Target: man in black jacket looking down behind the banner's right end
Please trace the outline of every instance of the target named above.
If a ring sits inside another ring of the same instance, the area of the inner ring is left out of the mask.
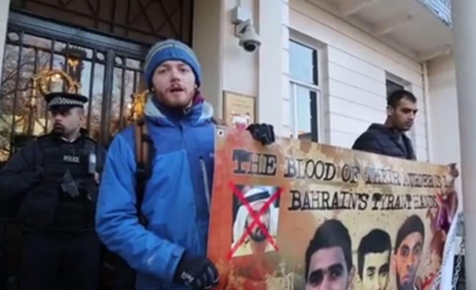
[[[387,120],[384,124],[372,124],[360,135],[352,149],[392,157],[416,160],[412,141],[405,132],[412,129],[418,112],[416,97],[408,91],[398,90],[387,98]],[[450,174],[456,178],[456,164],[449,165]]]

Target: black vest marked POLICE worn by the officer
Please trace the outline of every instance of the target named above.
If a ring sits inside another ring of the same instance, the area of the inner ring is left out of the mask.
[[[48,227],[73,231],[94,228],[98,188],[88,166],[90,154],[96,154],[96,143],[85,137],[69,143],[54,135],[39,142],[44,170],[39,190],[43,195],[51,195],[53,202]],[[66,172],[72,177],[69,183]],[[65,192],[68,186],[64,184],[75,187],[79,194],[71,196]]]

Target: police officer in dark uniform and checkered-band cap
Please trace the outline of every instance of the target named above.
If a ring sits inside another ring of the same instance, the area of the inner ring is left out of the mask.
[[[21,198],[23,289],[96,289],[94,215],[105,151],[81,128],[87,97],[45,98],[53,131],[25,145],[0,171],[0,202]]]

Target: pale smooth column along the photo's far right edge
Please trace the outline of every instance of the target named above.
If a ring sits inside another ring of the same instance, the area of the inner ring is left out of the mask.
[[[466,289],[476,289],[476,1],[453,1],[461,177],[466,231]]]

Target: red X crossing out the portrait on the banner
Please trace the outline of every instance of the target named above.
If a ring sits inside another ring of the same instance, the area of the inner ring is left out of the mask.
[[[238,190],[238,188],[235,186],[233,181],[230,181],[228,183],[228,187],[233,191],[233,193],[235,193],[235,195],[237,195],[238,199],[246,207],[249,214],[253,218],[253,222],[245,228],[246,233],[244,233],[241,236],[241,238],[238,240],[238,242],[235,243],[235,246],[233,246],[233,248],[228,253],[227,258],[228,259],[232,258],[233,254],[238,250],[238,247],[245,241],[246,237],[252,234],[251,230],[255,226],[259,227],[259,229],[265,234],[268,242],[274,247],[275,250],[278,251],[278,245],[276,244],[276,241],[273,239],[273,237],[271,237],[268,230],[264,227],[263,223],[261,223],[261,221],[259,220],[259,217],[262,216],[268,210],[271,203],[273,203],[279,197],[279,195],[282,192],[282,189],[278,188],[276,193],[271,195],[271,197],[264,203],[264,205],[260,208],[260,210],[258,212],[255,212],[254,209],[249,204],[248,200],[246,200],[246,198],[244,197],[244,194]]]

